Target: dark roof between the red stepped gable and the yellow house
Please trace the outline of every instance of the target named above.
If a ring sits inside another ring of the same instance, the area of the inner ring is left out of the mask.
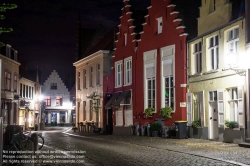
[[[197,37],[198,34],[198,21],[199,7],[201,0],[180,1],[172,0],[168,7],[172,7],[173,11],[178,12],[176,18],[181,19],[179,27],[184,26],[184,33],[187,33],[187,40]],[[171,10],[171,9],[170,9]]]

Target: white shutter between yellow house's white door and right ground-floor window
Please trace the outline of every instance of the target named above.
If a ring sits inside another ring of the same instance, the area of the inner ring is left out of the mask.
[[[224,127],[224,90],[217,90],[217,104],[218,104],[218,124],[219,127]]]

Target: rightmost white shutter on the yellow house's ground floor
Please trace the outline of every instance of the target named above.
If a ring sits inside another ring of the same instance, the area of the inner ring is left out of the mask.
[[[239,127],[244,128],[244,87],[238,87],[238,114],[239,114]]]

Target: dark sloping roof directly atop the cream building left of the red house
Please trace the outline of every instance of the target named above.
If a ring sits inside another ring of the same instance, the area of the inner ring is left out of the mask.
[[[118,28],[112,28],[92,49],[90,49],[86,55],[89,56],[100,50],[113,50],[115,34],[118,32]]]

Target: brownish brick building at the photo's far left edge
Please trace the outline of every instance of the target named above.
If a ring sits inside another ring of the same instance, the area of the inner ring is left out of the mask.
[[[4,124],[19,124],[19,66],[18,52],[7,44],[0,48],[1,66],[1,112]]]

